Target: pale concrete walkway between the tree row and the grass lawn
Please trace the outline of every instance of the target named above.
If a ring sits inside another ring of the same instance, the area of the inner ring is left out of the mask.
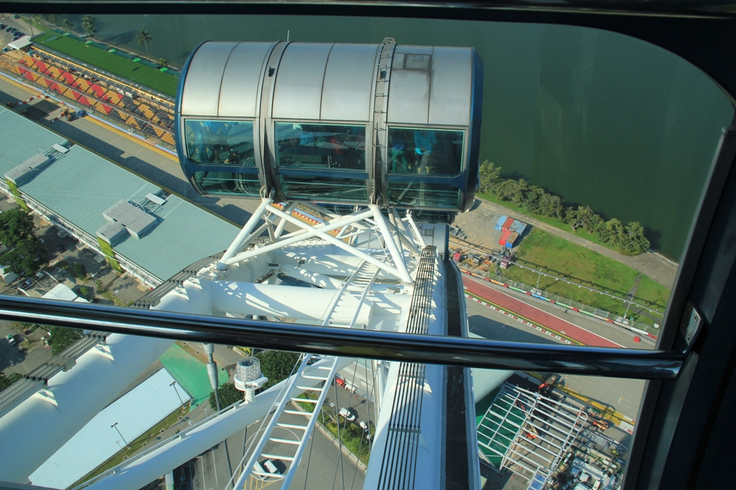
[[[531,216],[522,215],[508,207],[497,205],[495,202],[486,201],[485,199],[476,198],[473,210],[470,210],[467,213],[459,213],[455,219],[455,224],[465,232],[467,235],[467,241],[471,244],[484,246],[488,249],[500,250],[500,245],[498,243],[493,243],[489,230],[492,230],[501,215],[518,217],[522,221],[526,221],[528,224],[531,224],[533,227],[545,230],[545,232],[556,235],[559,238],[564,238],[567,241],[573,242],[573,244],[584,246],[587,249],[591,249],[592,251],[605,255],[613,260],[618,260],[618,262],[624,263],[632,269],[640,271],[646,277],[657,281],[657,283],[665,286],[666,288],[672,289],[672,286],[675,283],[678,266],[676,263],[663,258],[661,255],[652,252],[645,252],[634,256],[623,255],[606,246],[601,246],[592,243],[592,241],[587,241],[585,238],[581,238],[572,232],[560,230],[550,224],[531,218]]]

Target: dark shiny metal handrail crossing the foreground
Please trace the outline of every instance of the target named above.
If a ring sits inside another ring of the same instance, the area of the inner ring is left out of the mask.
[[[0,296],[0,319],[173,340],[484,369],[674,380],[684,352],[321,327]]]

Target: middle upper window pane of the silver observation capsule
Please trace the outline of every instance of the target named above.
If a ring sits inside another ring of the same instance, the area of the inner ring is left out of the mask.
[[[365,126],[276,123],[276,165],[365,170]]]

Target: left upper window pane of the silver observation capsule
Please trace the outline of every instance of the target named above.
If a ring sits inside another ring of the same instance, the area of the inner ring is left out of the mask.
[[[186,152],[196,163],[255,166],[251,121],[194,121],[184,123]]]

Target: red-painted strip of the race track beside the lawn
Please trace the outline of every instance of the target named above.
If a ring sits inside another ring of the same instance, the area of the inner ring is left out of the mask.
[[[616,344],[614,341],[609,341],[607,338],[592,333],[590,330],[578,327],[576,324],[565,322],[565,320],[554,316],[546,311],[534,308],[532,305],[528,305],[523,301],[510,297],[508,294],[497,291],[494,288],[483,283],[478,283],[469,277],[463,275],[462,283],[465,287],[465,291],[475,296],[487,299],[489,302],[495,303],[496,305],[509,310],[509,312],[516,313],[519,316],[524,316],[532,322],[547,327],[557,333],[562,333],[569,338],[574,338],[576,341],[580,341],[585,345],[595,347],[623,347],[620,344]]]

